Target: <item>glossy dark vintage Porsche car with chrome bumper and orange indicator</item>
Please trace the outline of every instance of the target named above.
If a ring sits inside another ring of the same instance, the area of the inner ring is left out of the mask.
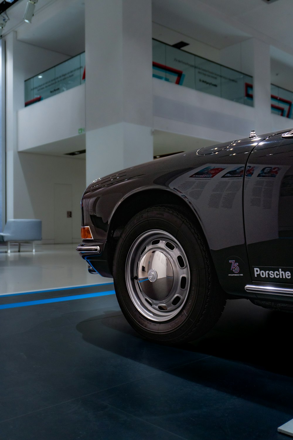
[[[175,154],[95,180],[77,250],[113,276],[142,336],[189,341],[227,298],[293,310],[293,130]]]

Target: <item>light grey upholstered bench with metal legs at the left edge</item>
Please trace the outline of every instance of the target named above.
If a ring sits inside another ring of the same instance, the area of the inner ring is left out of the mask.
[[[7,252],[10,253],[10,244],[18,243],[20,252],[21,243],[32,242],[35,252],[35,240],[42,239],[42,220],[13,219],[7,220],[4,231],[0,232],[0,240],[7,242]]]

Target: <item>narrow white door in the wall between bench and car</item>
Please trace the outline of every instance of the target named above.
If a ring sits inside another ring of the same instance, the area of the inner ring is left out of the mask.
[[[54,183],[54,242],[72,243],[72,185]]]

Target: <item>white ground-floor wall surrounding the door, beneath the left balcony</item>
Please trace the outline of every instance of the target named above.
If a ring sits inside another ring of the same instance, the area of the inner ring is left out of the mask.
[[[72,241],[80,241],[85,160],[14,153],[14,218],[42,220],[43,242],[54,243],[54,183],[72,185]]]

